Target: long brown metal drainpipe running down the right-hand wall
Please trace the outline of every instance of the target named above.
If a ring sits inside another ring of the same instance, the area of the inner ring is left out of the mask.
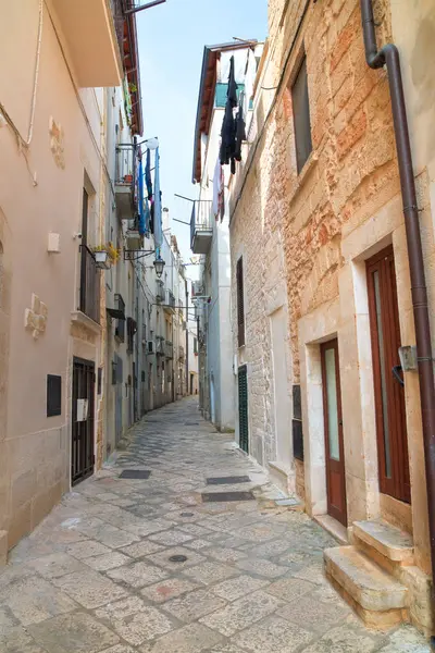
[[[409,140],[399,51],[393,44],[377,50],[372,0],[360,0],[365,60],[370,67],[387,66],[391,96],[393,122],[403,204],[411,274],[412,307],[420,378],[420,405],[423,421],[424,461],[426,468],[428,528],[431,538],[432,578],[435,579],[435,390],[432,361],[431,326],[424,279],[419,209]],[[434,583],[433,583],[434,591]]]

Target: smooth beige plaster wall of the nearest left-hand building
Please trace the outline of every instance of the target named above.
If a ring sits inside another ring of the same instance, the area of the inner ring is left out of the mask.
[[[2,48],[20,57],[0,62],[0,112],[8,112],[26,139],[39,2],[26,0],[24,10],[18,4],[2,8]],[[8,428],[1,436],[1,485],[9,490],[2,490],[0,528],[9,530],[10,546],[36,526],[70,485],[71,359],[73,355],[98,358],[98,336],[85,342],[92,337],[71,332],[71,312],[78,301],[79,241],[74,234],[80,231],[85,172],[95,192],[89,220],[99,223],[99,137],[94,139],[100,134],[98,98],[92,89],[76,93],[45,4],[44,11],[29,146],[20,147],[16,133],[0,119],[0,234],[7,234],[0,239],[4,238],[5,249],[3,279],[13,298],[9,345],[3,335],[0,353],[4,357],[9,347],[8,397],[3,393],[0,402],[1,410],[8,410]],[[48,254],[49,232],[60,234],[60,254]],[[38,337],[25,329],[33,295],[48,311]],[[62,377],[60,417],[46,417],[48,373]]]

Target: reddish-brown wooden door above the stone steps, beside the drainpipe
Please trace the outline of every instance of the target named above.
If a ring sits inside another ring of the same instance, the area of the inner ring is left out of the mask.
[[[380,488],[384,494],[410,503],[405,394],[399,380],[400,326],[391,246],[366,261],[366,273]]]

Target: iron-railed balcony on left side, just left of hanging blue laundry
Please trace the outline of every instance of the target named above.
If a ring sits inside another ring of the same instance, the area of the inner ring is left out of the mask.
[[[137,159],[133,145],[116,147],[115,195],[120,220],[132,220],[136,213]]]

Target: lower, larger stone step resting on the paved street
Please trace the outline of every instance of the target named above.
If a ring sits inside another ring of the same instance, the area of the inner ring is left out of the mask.
[[[408,620],[408,589],[355,546],[326,549],[324,559],[326,576],[368,626]]]

